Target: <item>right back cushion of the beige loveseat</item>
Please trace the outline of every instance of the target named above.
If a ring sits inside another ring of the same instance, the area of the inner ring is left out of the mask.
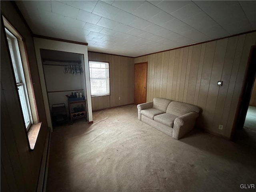
[[[166,113],[175,115],[175,116],[182,116],[184,114],[187,114],[189,112],[200,112],[200,109],[197,106],[190,105],[187,103],[172,101],[168,105],[166,109]]]

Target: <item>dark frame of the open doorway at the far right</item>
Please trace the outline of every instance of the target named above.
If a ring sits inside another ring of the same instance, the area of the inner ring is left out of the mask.
[[[236,110],[234,124],[231,130],[230,139],[234,140],[236,130],[242,129],[247,110],[250,103],[252,88],[256,78],[256,45],[251,46],[250,54],[245,71],[245,78],[242,86],[242,92],[238,101],[238,108]]]

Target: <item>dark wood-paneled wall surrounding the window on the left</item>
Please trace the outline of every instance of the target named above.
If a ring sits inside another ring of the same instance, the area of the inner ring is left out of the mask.
[[[1,17],[2,14],[25,40],[38,119],[42,122],[42,127],[34,151],[29,151],[12,63],[4,36],[4,25],[1,20],[1,191],[32,192],[36,191],[44,144],[49,129],[32,33],[17,12],[14,2],[1,1]]]

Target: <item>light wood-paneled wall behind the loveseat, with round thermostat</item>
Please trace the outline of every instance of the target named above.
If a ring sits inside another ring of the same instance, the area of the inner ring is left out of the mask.
[[[255,44],[256,32],[135,58],[135,63],[148,62],[147,101],[162,97],[199,106],[197,126],[230,138]]]

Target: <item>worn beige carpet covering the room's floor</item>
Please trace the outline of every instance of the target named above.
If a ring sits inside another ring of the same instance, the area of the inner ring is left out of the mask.
[[[256,186],[256,152],[204,132],[180,140],[129,105],[52,132],[48,192],[235,192]]]

